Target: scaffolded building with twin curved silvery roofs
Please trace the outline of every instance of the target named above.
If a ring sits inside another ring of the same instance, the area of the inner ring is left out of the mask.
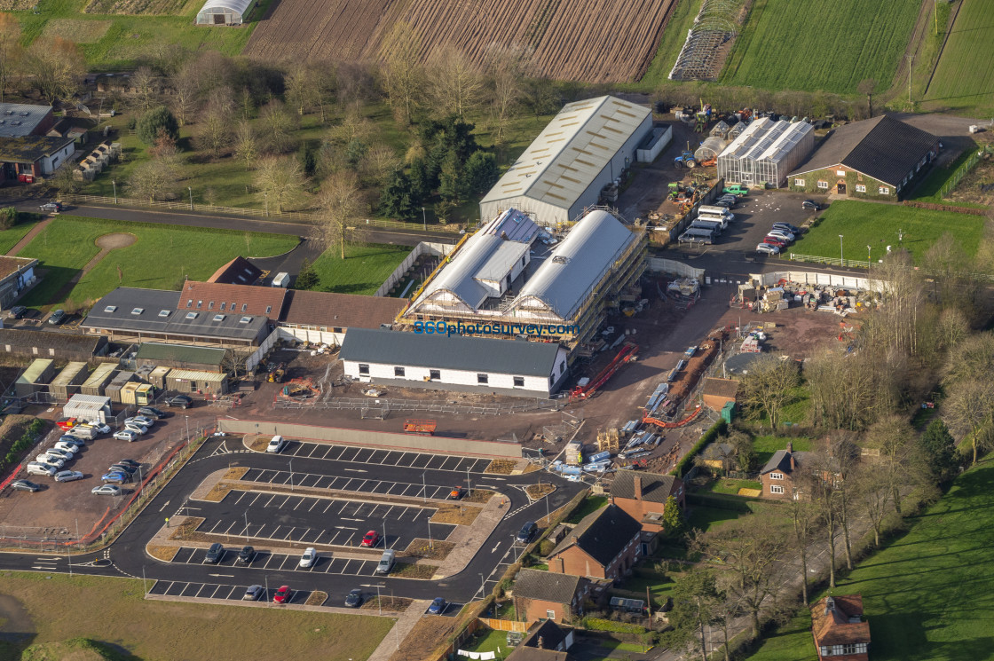
[[[533,244],[537,231],[516,210],[500,214],[439,265],[403,322],[415,329],[454,322],[474,329],[462,334],[535,335],[574,346],[589,341],[609,301],[617,305],[645,270],[645,233],[595,210],[533,262],[529,247],[543,248]]]

